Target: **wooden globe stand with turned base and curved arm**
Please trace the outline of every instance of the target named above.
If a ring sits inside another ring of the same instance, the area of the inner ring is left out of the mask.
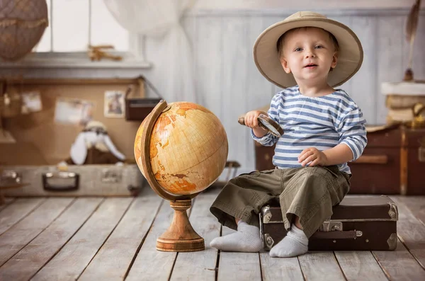
[[[142,140],[145,139],[145,144],[142,144],[141,157],[146,180],[155,193],[170,201],[170,205],[174,209],[174,217],[169,229],[157,239],[157,250],[167,252],[202,251],[205,250],[204,239],[193,229],[186,212],[192,205],[192,198],[199,193],[181,196],[167,193],[157,182],[149,161],[149,143],[152,129],[159,115],[168,109],[166,101],[160,101],[147,115],[142,133]]]

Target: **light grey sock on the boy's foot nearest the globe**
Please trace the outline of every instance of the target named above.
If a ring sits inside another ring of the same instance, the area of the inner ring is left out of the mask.
[[[221,251],[255,253],[263,248],[263,241],[258,227],[239,221],[236,232],[212,239],[210,246]]]

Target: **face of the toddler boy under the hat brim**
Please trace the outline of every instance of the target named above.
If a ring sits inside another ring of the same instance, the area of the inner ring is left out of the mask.
[[[334,42],[321,28],[300,28],[285,35],[280,63],[286,73],[293,73],[297,84],[326,82],[337,59]]]

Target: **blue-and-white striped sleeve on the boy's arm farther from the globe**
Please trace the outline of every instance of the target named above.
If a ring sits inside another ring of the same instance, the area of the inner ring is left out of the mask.
[[[339,143],[346,144],[353,152],[354,161],[363,154],[368,138],[366,137],[365,118],[360,108],[352,108],[341,119],[338,126]]]

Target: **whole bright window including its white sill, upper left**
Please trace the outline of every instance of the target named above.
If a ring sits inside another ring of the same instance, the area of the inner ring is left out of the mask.
[[[115,21],[103,0],[46,0],[49,26],[33,55],[17,62],[2,62],[0,69],[73,68],[141,69],[152,65],[145,60],[144,37],[129,33]],[[120,61],[91,62],[89,45],[113,45],[105,50],[123,57]]]

